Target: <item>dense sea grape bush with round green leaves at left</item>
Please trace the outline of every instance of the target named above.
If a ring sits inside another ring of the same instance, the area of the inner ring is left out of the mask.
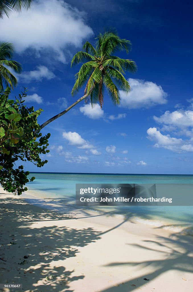
[[[41,160],[40,156],[49,152],[50,133],[40,133],[37,118],[43,109],[34,111],[34,107],[24,105],[26,88],[15,100],[9,99],[9,94],[9,87],[0,94],[0,183],[4,190],[20,195],[27,191],[24,185],[35,177],[28,178],[29,171],[24,171],[23,165],[16,168],[15,161],[44,166],[48,160]]]

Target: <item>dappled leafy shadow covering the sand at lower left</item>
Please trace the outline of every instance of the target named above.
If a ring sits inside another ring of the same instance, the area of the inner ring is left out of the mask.
[[[78,247],[100,239],[101,232],[93,228],[65,227],[66,220],[75,219],[72,213],[50,212],[29,205],[24,200],[14,203],[15,199],[1,197],[0,230],[4,227],[3,237],[0,232],[0,244],[4,249],[3,253],[0,252],[3,259],[0,260],[1,282],[22,283],[23,290],[14,289],[16,292],[72,292],[69,283],[82,280],[85,276],[81,273],[77,277],[71,276],[73,270],[66,270],[62,261],[75,257]],[[52,224],[55,220],[62,220],[64,226],[46,226],[52,220]],[[10,221],[13,226],[8,226]],[[38,221],[45,223],[42,227],[36,227]],[[29,258],[23,263],[24,256]]]

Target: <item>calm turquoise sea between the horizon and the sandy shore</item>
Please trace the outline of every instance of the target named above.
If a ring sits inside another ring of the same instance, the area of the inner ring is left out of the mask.
[[[50,198],[55,202],[76,204],[76,183],[168,183],[193,184],[193,175],[153,175],[153,174],[96,174],[96,173],[30,173],[36,180],[27,187],[41,198]],[[193,194],[192,194],[193,195]],[[145,224],[173,229],[192,234],[193,206],[105,206],[95,207],[126,220],[135,220]]]

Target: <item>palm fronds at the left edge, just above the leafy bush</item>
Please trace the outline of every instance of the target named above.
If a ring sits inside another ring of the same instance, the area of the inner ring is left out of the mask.
[[[8,68],[13,69],[16,73],[22,71],[20,63],[9,60],[13,56],[13,49],[13,44],[0,42],[0,92],[3,91],[3,84],[10,86],[12,89],[17,84],[16,77]]]

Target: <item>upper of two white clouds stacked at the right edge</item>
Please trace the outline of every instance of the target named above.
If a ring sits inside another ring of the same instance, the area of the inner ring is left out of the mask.
[[[174,112],[166,111],[161,117],[153,117],[158,123],[182,127],[193,127],[193,111],[176,110]]]

